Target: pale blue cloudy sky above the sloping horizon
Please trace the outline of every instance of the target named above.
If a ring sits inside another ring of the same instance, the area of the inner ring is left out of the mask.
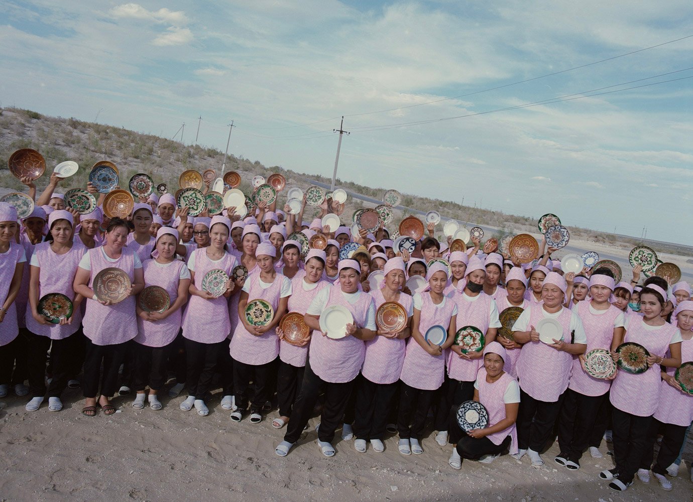
[[[6,0],[0,102],[222,151],[234,120],[328,177],[344,115],[341,179],[693,244],[691,35],[690,0]]]

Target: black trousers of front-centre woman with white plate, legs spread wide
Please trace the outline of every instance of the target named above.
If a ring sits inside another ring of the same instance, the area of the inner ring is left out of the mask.
[[[310,415],[313,415],[317,396],[322,392],[324,393],[325,402],[320,415],[320,428],[317,431],[317,437],[321,441],[332,442],[335,438],[335,430],[342,424],[344,409],[347,407],[353,382],[353,380],[336,384],[325,382],[313,373],[313,370],[310,368],[310,361],[308,361],[304,371],[301,391],[294,403],[291,420],[286,429],[284,440],[294,443],[301,437],[304,427],[308,424]]]

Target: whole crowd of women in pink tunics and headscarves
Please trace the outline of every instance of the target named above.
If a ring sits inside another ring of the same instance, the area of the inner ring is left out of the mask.
[[[23,181],[35,197],[33,183]],[[538,467],[557,436],[555,462],[576,470],[584,451],[601,456],[604,437],[613,440],[615,467],[599,477],[613,490],[626,490],[636,476],[647,483],[650,473],[672,489],[669,476],[693,421],[693,395],[674,378],[682,362],[693,361],[687,283],[654,276],[639,285],[637,267],[630,283],[615,283],[608,269],[563,274],[556,250],[544,253],[545,242],[534,266],[484,254],[477,240],[468,251],[450,251],[433,237],[432,224],[414,251],[400,252],[383,225],[351,235],[347,226],[331,232],[320,217],[304,223],[305,201],[298,215],[260,204],[243,219],[233,208],[191,217],[164,194],[141,199],[126,219],[108,218],[99,207],[80,215],[55,191],[59,181],[51,178],[21,221],[15,207],[0,202],[0,397],[12,389],[29,393],[26,409],[37,411],[47,393],[48,409],[60,411],[64,389],[81,386],[87,416],[112,415],[112,397],[131,391],[135,409],[161,410],[159,393],[173,373],[168,393],[187,391],[183,411],[207,415],[216,388],[235,422],[246,415],[262,422],[277,404],[272,427],[286,427],[279,456],[296,445],[317,406],[325,456],[335,455],[337,429],[361,453],[369,443],[383,451],[390,431],[401,454],[422,454],[432,421],[435,441],[452,445],[453,469],[465,459],[491,463],[505,451]],[[344,206],[326,199],[319,209],[322,217]],[[326,246],[306,249],[287,238],[294,231],[308,239],[322,233]],[[349,242],[358,248],[340,258]],[[238,265],[247,276],[234,274]],[[118,303],[94,291],[94,278],[109,267],[130,278]],[[202,284],[213,269],[229,277],[221,294]],[[384,279],[371,289],[374,270]],[[423,286],[411,291],[407,280],[416,275]],[[152,285],[168,293],[164,312],[137,302]],[[50,323],[39,307],[48,293],[69,297],[71,316]],[[256,299],[272,306],[265,325],[245,315]],[[407,316],[397,332],[376,323],[388,302]],[[321,314],[333,305],[353,318],[341,337],[321,328]],[[499,312],[509,307],[523,312],[512,336],[499,336]],[[310,329],[300,343],[280,328],[286,312],[301,314]],[[561,326],[552,343],[540,341],[543,319]],[[437,326],[446,330],[439,344],[427,336]],[[484,334],[476,352],[457,343],[466,326]],[[647,348],[647,371],[590,376],[587,352],[604,348],[616,361],[617,347],[629,341]],[[457,409],[471,400],[485,407],[488,423],[462,430]]]

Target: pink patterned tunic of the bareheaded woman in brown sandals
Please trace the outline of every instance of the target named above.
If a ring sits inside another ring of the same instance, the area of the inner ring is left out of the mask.
[[[100,247],[87,251],[91,264],[91,278],[89,287],[94,289],[94,278],[103,269],[116,267],[128,274],[130,282],[134,281],[134,251],[123,247],[120,258],[115,262],[109,262],[103,256]],[[137,316],[135,315],[135,298],[130,295],[125,300],[115,305],[101,305],[98,301],[87,298],[87,312],[84,326],[85,336],[94,345],[117,345],[132,340],[137,335]]]

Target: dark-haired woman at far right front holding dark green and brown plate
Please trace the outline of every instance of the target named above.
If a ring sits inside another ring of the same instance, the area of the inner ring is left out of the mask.
[[[649,282],[652,281],[652,282]],[[616,467],[599,473],[610,480],[609,487],[623,492],[633,483],[635,472],[647,449],[647,435],[652,415],[657,411],[661,391],[660,366],[681,366],[681,332],[660,316],[667,302],[664,279],[651,277],[640,292],[640,319],[626,323],[625,342],[643,346],[647,357],[647,370],[633,374],[619,369],[611,384],[609,400],[613,405],[613,454]],[[669,357],[667,355],[667,350]],[[651,368],[651,366],[655,366]],[[647,470],[638,472],[642,481],[649,481]]]

